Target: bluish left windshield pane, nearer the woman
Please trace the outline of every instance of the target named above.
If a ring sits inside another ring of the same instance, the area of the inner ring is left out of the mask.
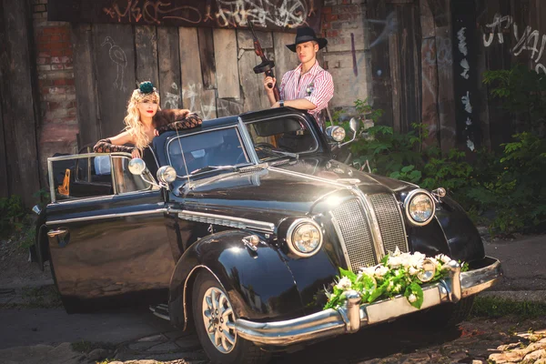
[[[177,136],[168,142],[169,164],[178,177],[204,173],[220,166],[248,164],[236,126]],[[184,151],[184,155],[182,155]]]

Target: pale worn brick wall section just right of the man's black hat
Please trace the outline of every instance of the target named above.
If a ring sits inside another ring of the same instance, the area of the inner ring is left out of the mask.
[[[321,30],[328,39],[324,66],[334,78],[334,109],[354,113],[354,101],[371,92],[365,0],[324,0]]]

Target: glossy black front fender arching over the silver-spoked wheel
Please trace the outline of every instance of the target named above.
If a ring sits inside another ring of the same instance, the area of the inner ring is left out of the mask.
[[[253,251],[243,243],[250,234],[222,231],[187,248],[170,282],[168,308],[173,325],[187,329],[193,282],[201,269],[217,278],[238,318],[286,319],[302,314],[294,277],[278,250],[261,242]]]

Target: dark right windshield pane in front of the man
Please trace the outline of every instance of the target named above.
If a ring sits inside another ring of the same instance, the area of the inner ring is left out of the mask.
[[[318,142],[305,119],[285,117],[247,124],[260,161],[312,152]]]

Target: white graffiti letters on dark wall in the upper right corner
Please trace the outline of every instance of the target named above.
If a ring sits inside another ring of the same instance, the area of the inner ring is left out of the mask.
[[[483,45],[486,47],[492,45],[495,39],[499,44],[504,43],[503,31],[511,29],[511,36],[514,37],[515,44],[511,48],[513,56],[520,56],[523,51],[526,51],[531,61],[535,64],[537,73],[543,72],[546,74],[546,66],[542,64],[542,56],[544,56],[544,48],[546,47],[546,35],[540,34],[538,30],[532,30],[531,26],[527,25],[525,30],[520,33],[520,27],[511,15],[495,14],[493,21],[485,25],[488,34],[483,35]]]

